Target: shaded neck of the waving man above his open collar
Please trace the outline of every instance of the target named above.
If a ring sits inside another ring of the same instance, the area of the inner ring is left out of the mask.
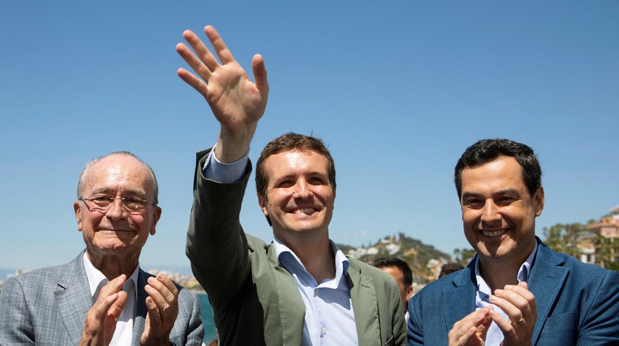
[[[314,235],[301,239],[295,239],[286,235],[275,234],[275,236],[299,257],[305,269],[316,280],[316,283],[335,277],[335,255],[331,253],[328,233],[321,237]]]

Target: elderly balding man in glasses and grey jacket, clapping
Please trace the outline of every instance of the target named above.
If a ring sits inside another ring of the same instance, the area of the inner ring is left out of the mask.
[[[201,345],[197,296],[139,267],[161,216],[157,179],[129,152],[88,162],[73,207],[85,251],[7,280],[0,345]]]

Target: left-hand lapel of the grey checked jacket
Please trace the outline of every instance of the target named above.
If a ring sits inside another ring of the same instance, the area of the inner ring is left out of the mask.
[[[76,345],[82,337],[86,314],[93,305],[83,256],[84,251],[76,259],[64,265],[64,275],[58,280],[54,292],[54,300],[64,327],[72,344]]]

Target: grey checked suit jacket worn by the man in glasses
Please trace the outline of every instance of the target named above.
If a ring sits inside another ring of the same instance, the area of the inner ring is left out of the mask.
[[[0,293],[0,345],[77,345],[92,308],[84,251],[62,266],[46,267],[7,280]],[[153,275],[139,270],[137,311],[131,345],[139,345],[144,332],[146,280]],[[176,285],[178,317],[170,341],[175,345],[201,345],[204,327],[200,303],[194,293]]]

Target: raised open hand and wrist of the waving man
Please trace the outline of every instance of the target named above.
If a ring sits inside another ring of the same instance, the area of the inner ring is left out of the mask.
[[[251,65],[256,82],[252,82],[215,28],[208,25],[204,32],[221,64],[195,33],[185,30],[183,37],[197,56],[183,43],[176,45],[176,51],[200,78],[183,68],[177,73],[206,98],[221,124],[215,155],[222,162],[233,162],[249,149],[258,120],[264,114],[269,95],[267,72],[262,56],[254,55]]]

